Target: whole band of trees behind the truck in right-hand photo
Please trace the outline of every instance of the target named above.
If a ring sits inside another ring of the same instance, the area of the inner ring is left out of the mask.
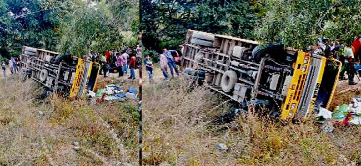
[[[321,36],[352,42],[359,0],[143,0],[143,44],[177,49],[188,29],[305,49]]]

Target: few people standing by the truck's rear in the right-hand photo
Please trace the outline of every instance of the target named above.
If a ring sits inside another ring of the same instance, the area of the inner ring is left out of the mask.
[[[180,44],[178,46],[181,48],[180,53],[178,53],[177,50],[167,50],[166,48],[163,48],[162,53],[159,54],[158,61],[159,61],[160,68],[162,70],[164,79],[168,79],[170,77],[170,75],[173,78],[174,72],[177,76],[179,76],[178,68],[181,68],[182,53],[183,53],[184,45]],[[152,83],[153,82],[154,64],[153,64],[149,54],[145,55],[144,65],[145,65],[145,71],[147,71],[147,73],[148,73],[149,83]],[[170,71],[170,75],[168,73],[168,69]]]

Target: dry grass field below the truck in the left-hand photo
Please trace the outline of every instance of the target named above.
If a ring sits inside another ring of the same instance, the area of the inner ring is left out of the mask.
[[[91,106],[87,99],[58,95],[37,100],[39,88],[17,76],[0,79],[0,165],[139,163],[137,102]]]

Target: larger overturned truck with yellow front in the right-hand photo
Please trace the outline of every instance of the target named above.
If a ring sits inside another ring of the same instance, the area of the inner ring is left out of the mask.
[[[188,30],[182,66],[243,109],[262,106],[281,120],[307,120],[315,108],[330,107],[342,64],[280,43]]]

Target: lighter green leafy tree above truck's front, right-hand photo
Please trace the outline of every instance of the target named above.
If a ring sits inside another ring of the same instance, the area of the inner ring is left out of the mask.
[[[285,46],[304,49],[321,36],[352,42],[361,32],[358,0],[261,0],[258,40],[282,40]]]

